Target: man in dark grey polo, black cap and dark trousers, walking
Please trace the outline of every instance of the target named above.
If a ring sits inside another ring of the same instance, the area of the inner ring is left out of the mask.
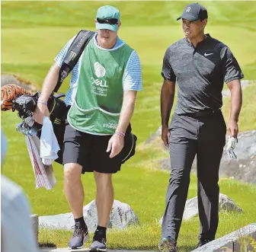
[[[229,136],[238,135],[243,74],[229,47],[204,33],[207,18],[202,5],[187,5],[178,18],[182,19],[184,38],[169,46],[163,59],[162,140],[169,146],[171,156],[171,178],[158,245],[165,252],[176,251],[190,169],[196,155],[200,219],[197,247],[215,238],[219,222],[219,163],[226,143],[226,129]],[[221,111],[224,81],[231,91],[227,127]],[[178,99],[168,126],[176,84]]]

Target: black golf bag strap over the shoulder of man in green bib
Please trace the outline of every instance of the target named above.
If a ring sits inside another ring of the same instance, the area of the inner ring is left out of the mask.
[[[68,52],[62,62],[62,66],[59,69],[59,78],[53,92],[56,93],[59,90],[62,82],[75,67],[75,64],[78,62],[78,59],[85,49],[85,46],[87,46],[93,36],[94,32],[91,30],[80,30],[78,32],[75,40],[73,40],[71,46],[69,46]]]

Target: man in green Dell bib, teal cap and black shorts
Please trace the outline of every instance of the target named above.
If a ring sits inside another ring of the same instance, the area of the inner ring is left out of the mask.
[[[117,36],[120,11],[109,5],[98,9],[94,37],[72,70],[65,102],[70,106],[64,136],[64,190],[75,219],[69,247],[82,247],[88,241],[83,217],[84,190],[81,174],[94,172],[98,227],[91,251],[106,251],[106,230],[114,202],[112,174],[120,171],[123,146],[131,131],[130,120],[137,91],[142,90],[139,56]],[[46,106],[58,80],[59,69],[74,37],[56,56],[45,78],[34,119],[49,116]]]

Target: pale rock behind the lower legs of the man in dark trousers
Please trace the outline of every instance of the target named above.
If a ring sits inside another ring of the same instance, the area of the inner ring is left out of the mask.
[[[219,193],[219,211],[225,210],[227,212],[242,212],[242,209],[235,205],[232,199],[229,199],[223,193]],[[192,217],[198,214],[198,203],[197,203],[197,196],[192,199],[187,199],[183,219],[191,219]],[[159,223],[162,224],[162,218],[159,220]]]

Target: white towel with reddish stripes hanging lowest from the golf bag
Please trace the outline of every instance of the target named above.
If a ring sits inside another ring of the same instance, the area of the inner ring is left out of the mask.
[[[40,158],[40,139],[38,136],[25,136],[25,139],[30,161],[34,169],[36,188],[45,187],[47,190],[53,189],[56,185],[56,177],[53,173],[52,164],[43,164]]]

